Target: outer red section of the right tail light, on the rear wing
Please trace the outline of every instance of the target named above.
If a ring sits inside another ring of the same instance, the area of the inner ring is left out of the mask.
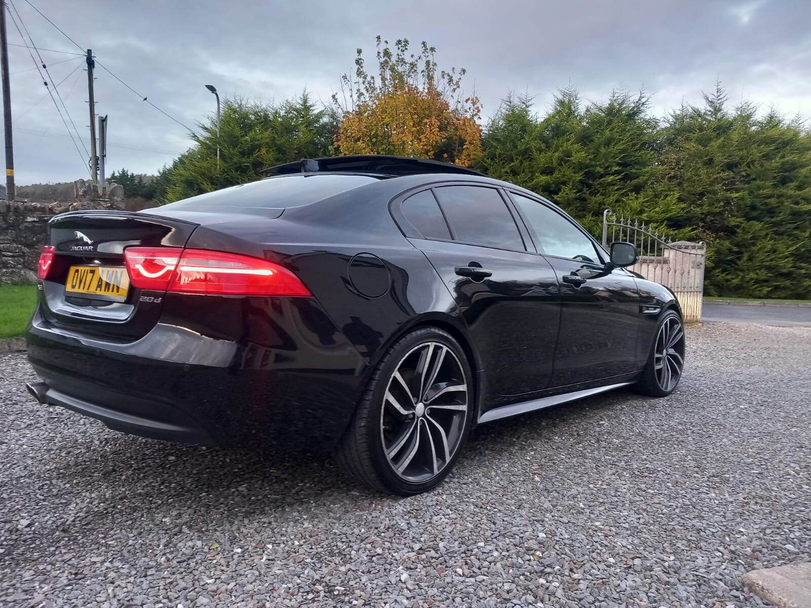
[[[185,249],[169,291],[211,295],[311,296],[298,276],[249,255]]]

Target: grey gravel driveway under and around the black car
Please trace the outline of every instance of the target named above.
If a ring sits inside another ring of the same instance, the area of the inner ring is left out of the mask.
[[[811,555],[811,328],[689,330],[680,388],[477,430],[428,495],[137,439],[0,358],[2,606],[762,606]]]

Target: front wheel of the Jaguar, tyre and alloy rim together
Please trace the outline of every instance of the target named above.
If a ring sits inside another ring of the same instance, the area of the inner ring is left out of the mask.
[[[670,395],[679,384],[683,370],[684,324],[676,311],[667,310],[659,320],[645,370],[634,389],[652,397]]]

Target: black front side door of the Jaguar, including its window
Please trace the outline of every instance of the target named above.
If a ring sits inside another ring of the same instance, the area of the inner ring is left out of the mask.
[[[535,246],[560,281],[560,333],[551,387],[637,371],[640,296],[633,276],[607,268],[594,239],[551,205],[510,192]]]

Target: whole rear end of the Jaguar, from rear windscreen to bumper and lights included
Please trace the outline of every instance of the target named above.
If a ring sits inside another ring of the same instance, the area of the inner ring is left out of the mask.
[[[328,448],[351,416],[361,358],[267,236],[285,208],[376,181],[333,178],[54,217],[28,328],[41,382],[29,391],[155,439]]]

